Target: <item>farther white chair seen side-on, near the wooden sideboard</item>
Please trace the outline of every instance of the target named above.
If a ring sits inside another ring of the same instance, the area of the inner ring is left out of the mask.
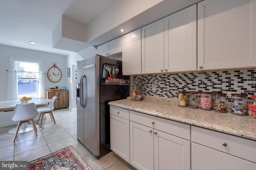
[[[52,110],[54,109],[54,101],[55,101],[56,98],[57,98],[56,96],[53,96],[52,101],[48,104],[48,106],[46,106],[44,108],[38,108],[37,109],[38,113],[40,113],[40,115],[38,117],[38,120],[37,120],[37,124],[39,123],[40,118],[41,118],[40,127],[42,127],[43,117],[44,117],[45,113],[50,113],[51,119],[54,121],[54,124],[56,124],[54,116],[52,114]]]

